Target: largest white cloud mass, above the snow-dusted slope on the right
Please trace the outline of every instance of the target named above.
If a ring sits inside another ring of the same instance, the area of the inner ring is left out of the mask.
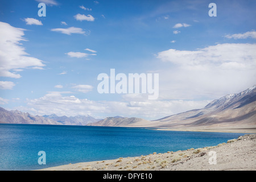
[[[255,84],[255,49],[256,44],[218,44],[159,52],[156,57],[166,63],[159,70],[159,99],[209,100],[249,88]]]

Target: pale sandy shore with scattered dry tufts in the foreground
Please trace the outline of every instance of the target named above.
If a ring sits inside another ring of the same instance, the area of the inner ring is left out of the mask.
[[[256,134],[246,134],[218,146],[168,151],[133,158],[68,164],[45,171],[256,170]],[[212,152],[216,155],[210,156]],[[216,160],[215,160],[216,159]],[[216,162],[214,164],[213,162]],[[210,164],[211,163],[211,164]]]

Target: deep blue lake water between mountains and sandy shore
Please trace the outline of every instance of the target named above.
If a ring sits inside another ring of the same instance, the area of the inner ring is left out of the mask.
[[[32,170],[216,146],[240,135],[244,134],[0,124],[0,170]],[[39,151],[46,152],[45,165],[38,164]]]

